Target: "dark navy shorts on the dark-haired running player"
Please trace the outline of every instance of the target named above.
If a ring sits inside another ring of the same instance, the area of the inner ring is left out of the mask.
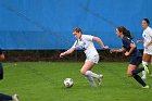
[[[142,56],[130,56],[130,62],[129,62],[129,64],[139,66],[140,63],[142,63]]]

